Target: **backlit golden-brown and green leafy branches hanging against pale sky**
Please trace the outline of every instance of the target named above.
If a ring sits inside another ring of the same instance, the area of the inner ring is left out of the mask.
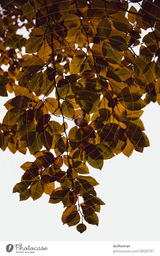
[[[159,0],[1,1],[0,96],[13,98],[0,147],[35,156],[20,201],[45,193],[63,224],[98,226],[89,166],[149,146],[140,117],[160,104],[159,18]]]

